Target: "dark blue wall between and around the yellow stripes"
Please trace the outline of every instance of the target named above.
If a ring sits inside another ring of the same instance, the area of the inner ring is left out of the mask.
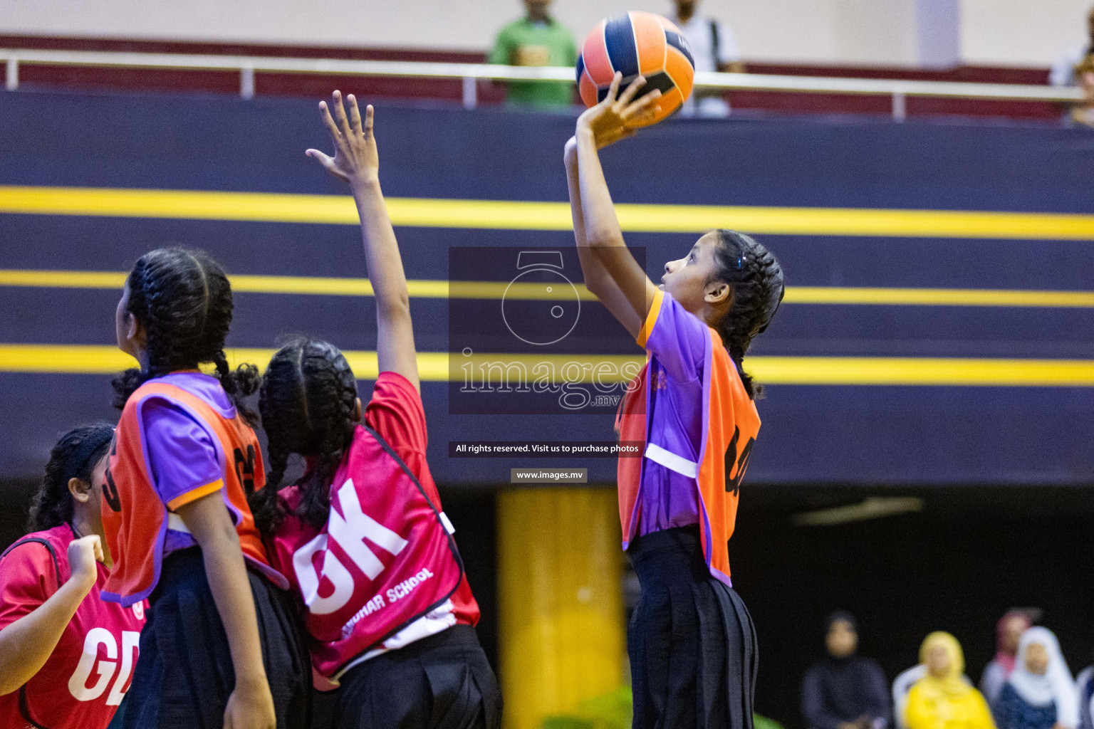
[[[381,106],[389,196],[565,200],[568,115]],[[342,193],[303,155],[328,146],[291,99],[0,95],[0,185]],[[605,152],[620,202],[1092,213],[1094,134],[1047,126],[857,119],[670,120]],[[726,221],[732,225],[732,221]],[[446,278],[451,246],[572,246],[565,232],[399,228],[408,278]],[[633,234],[650,273],[694,235]],[[1094,289],[1094,242],[763,236],[791,285]],[[126,270],[208,249],[232,273],[362,275],[347,225],[0,215],[0,269]],[[0,286],[0,343],[109,344],[117,293]],[[443,299],[412,302],[418,346],[447,346]],[[371,299],[236,296],[230,344],[289,332],[375,346]],[[790,305],[755,354],[1094,360],[1094,309]],[[368,389],[365,385],[364,389]],[[503,483],[528,461],[449,459],[450,439],[612,437],[610,418],[455,416],[422,388],[439,481]],[[56,434],[110,418],[108,377],[0,374],[0,478],[38,472]],[[771,386],[752,483],[1092,483],[1094,388]],[[614,478],[614,461],[583,466]]]

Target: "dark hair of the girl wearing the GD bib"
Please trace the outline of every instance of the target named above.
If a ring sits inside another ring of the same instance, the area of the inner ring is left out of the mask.
[[[68,490],[72,479],[91,482],[91,472],[106,455],[114,438],[108,423],[80,425],[61,436],[49,451],[46,475],[31,499],[27,531],[53,529],[72,520],[74,504]]]

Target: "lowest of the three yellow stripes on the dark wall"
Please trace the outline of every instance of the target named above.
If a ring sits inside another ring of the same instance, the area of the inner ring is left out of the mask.
[[[236,349],[228,352],[233,364],[254,362],[265,365],[272,355],[269,349]],[[346,352],[358,377],[376,377],[375,352]],[[550,362],[556,368],[577,362],[587,373],[601,363],[624,372],[627,363],[641,364],[642,356],[552,355],[520,356],[482,354],[484,362],[521,362],[531,368]],[[418,367],[426,381],[463,379],[458,368],[449,371],[446,352],[419,352]],[[136,363],[113,346],[68,344],[0,344],[0,372],[53,374],[110,374]],[[788,357],[754,356],[745,366],[757,380],[767,385],[932,385],[932,386],[1009,386],[1009,387],[1094,387],[1094,361],[1090,360],[989,360],[958,357]],[[500,371],[492,377],[499,379]],[[587,379],[587,377],[586,377]],[[604,378],[612,380],[610,376]],[[618,381],[619,378],[616,378]]]

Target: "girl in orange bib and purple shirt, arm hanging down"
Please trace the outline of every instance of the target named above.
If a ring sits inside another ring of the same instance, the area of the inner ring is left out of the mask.
[[[107,542],[113,533],[125,549],[114,554],[117,588],[108,581],[104,599],[124,603],[136,591],[151,603],[127,728],[307,725],[306,646],[244,493],[264,483],[256,418],[242,402],[257,389],[258,371],[229,367],[231,321],[224,270],[203,251],[182,248],[142,256],[115,313],[118,346],[140,368],[113,383],[123,419],[103,508],[114,525]],[[216,375],[200,372],[206,363]],[[236,447],[218,435],[225,423]],[[119,457],[127,445],[137,456]],[[149,514],[163,515],[155,531]],[[128,575],[138,576],[136,587]]]

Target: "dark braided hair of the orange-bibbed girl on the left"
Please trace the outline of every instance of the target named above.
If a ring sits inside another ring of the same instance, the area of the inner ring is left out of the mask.
[[[253,425],[257,419],[242,399],[258,389],[258,368],[228,367],[224,340],[232,325],[232,286],[220,263],[202,250],[159,248],[140,257],[126,283],[126,310],[148,334],[148,368],[127,369],[114,378],[114,405],[124,408],[153,377],[211,362],[236,410]]]

